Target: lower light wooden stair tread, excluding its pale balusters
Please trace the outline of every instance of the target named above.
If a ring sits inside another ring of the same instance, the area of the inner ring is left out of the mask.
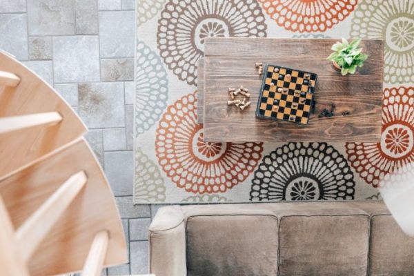
[[[83,138],[0,181],[0,195],[14,228],[22,226],[68,177],[79,171],[85,172],[88,182],[52,226],[47,239],[43,239],[34,251],[28,262],[32,276],[81,270],[90,243],[101,230],[108,230],[110,237],[104,266],[128,262],[115,198],[95,155]]]

